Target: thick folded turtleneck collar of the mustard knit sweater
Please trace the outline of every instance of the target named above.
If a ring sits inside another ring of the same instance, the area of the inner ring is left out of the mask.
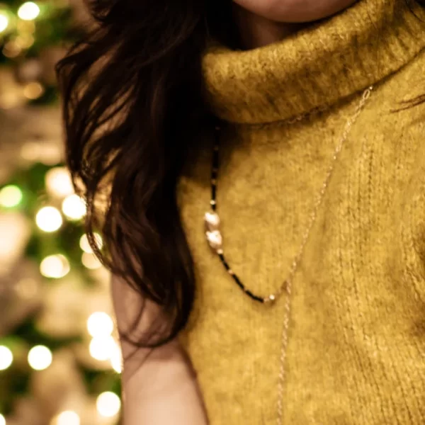
[[[234,123],[285,120],[377,83],[424,47],[425,9],[414,0],[359,0],[266,47],[210,48],[203,60],[208,101]]]

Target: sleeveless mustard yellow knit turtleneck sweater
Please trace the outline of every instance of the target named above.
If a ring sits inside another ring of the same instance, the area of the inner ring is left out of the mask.
[[[225,253],[254,293],[288,276],[361,93],[375,89],[335,164],[293,280],[285,425],[425,424],[425,13],[361,0],[273,45],[205,55],[230,123],[217,202]],[[289,118],[329,106],[290,123]],[[285,299],[249,299],[210,251],[211,146],[181,180],[198,297],[188,349],[212,425],[276,424]]]

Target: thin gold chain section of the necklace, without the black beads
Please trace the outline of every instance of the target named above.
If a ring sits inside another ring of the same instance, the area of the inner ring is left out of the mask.
[[[317,201],[314,204],[314,209],[312,214],[310,215],[310,222],[307,226],[307,229],[304,233],[304,236],[302,237],[302,244],[300,246],[300,251],[298,252],[297,256],[295,256],[295,259],[292,263],[292,267],[290,269],[290,273],[288,278],[285,280],[283,285],[278,290],[278,293],[276,293],[276,297],[281,295],[284,291],[286,292],[285,297],[285,316],[283,318],[283,331],[282,331],[282,339],[281,339],[281,348],[280,348],[280,369],[279,369],[279,380],[278,380],[278,425],[283,425],[283,390],[284,390],[284,384],[285,384],[285,360],[286,360],[286,353],[288,348],[288,329],[289,329],[289,321],[290,321],[290,308],[291,308],[291,293],[292,293],[292,284],[293,284],[293,277],[295,275],[295,272],[297,271],[298,264],[300,263],[300,260],[302,258],[302,254],[304,254],[305,245],[307,244],[308,238],[310,236],[311,229],[314,225],[314,222],[317,219],[317,212],[320,208],[320,205],[322,205],[322,201],[324,198],[324,193],[327,190],[329,180],[331,179],[332,171],[334,171],[334,165],[336,162],[336,159],[338,159],[339,152],[341,152],[341,149],[344,145],[344,142],[346,142],[348,134],[351,130],[351,126],[356,123],[356,120],[358,118],[358,115],[360,115],[361,111],[363,110],[363,107],[365,106],[366,101],[368,101],[368,98],[370,97],[370,94],[373,90],[373,86],[368,87],[368,89],[365,89],[363,92],[363,96],[361,97],[360,103],[358,103],[358,106],[356,108],[355,113],[353,116],[346,122],[346,126],[344,128],[344,132],[342,133],[341,140],[339,141],[338,145],[336,146],[334,155],[332,157],[331,165],[329,166],[329,169],[327,171],[326,177],[324,179],[324,182],[322,184],[322,188],[320,189],[319,196],[317,197]],[[295,122],[295,121],[294,121]]]

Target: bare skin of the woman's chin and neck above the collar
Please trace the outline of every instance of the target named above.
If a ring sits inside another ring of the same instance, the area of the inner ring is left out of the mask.
[[[309,23],[343,11],[357,0],[234,0],[242,47],[282,40]]]

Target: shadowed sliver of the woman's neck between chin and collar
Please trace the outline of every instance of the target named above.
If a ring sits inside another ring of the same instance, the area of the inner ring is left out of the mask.
[[[282,40],[306,24],[271,21],[234,4],[234,23],[243,49],[254,49]]]

